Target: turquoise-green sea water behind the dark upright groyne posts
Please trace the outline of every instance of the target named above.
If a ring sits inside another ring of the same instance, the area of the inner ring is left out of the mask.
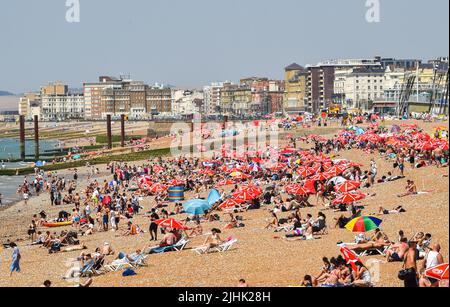
[[[34,154],[35,144],[32,140],[25,142],[25,154]],[[59,148],[59,142],[54,140],[39,141],[39,150],[44,153],[46,150]],[[0,139],[0,160],[20,159],[20,141],[19,139]]]

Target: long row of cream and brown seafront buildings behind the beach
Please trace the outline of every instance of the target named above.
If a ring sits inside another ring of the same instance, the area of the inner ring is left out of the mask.
[[[412,112],[442,112],[448,104],[448,57],[420,59],[336,59],[284,69],[284,80],[250,77],[213,82],[200,90],[148,85],[129,76],[101,76],[69,92],[60,81],[19,99],[19,114],[31,120],[131,120],[155,117],[232,116],[321,113],[328,111],[393,113],[400,101]],[[444,107],[445,106],[445,107]]]

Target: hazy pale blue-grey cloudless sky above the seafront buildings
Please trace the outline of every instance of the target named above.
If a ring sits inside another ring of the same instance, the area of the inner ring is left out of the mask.
[[[99,75],[199,86],[247,76],[282,78],[292,62],[339,57],[429,59],[449,51],[448,0],[0,1],[0,90],[20,93]]]

